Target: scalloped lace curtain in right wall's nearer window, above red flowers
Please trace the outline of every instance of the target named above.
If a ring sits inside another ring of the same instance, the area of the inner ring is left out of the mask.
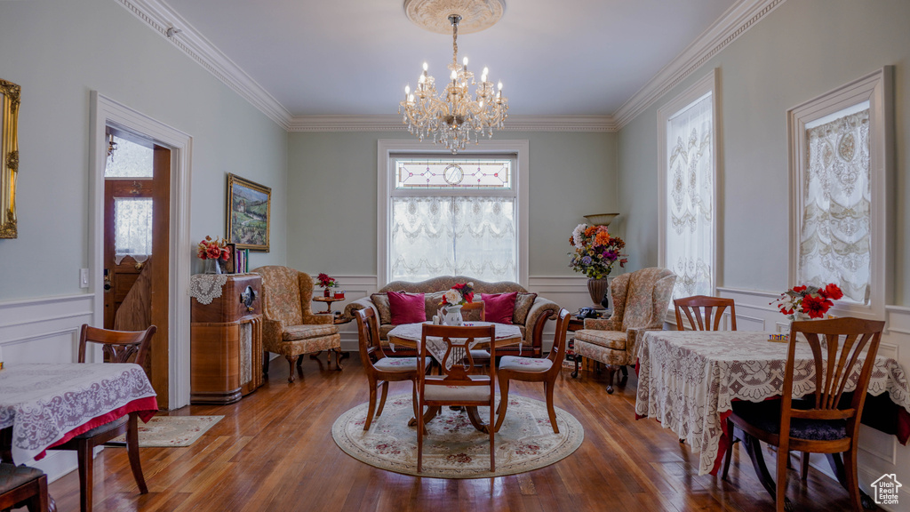
[[[854,302],[868,302],[872,188],[869,110],[806,131],[799,281],[834,282]]]

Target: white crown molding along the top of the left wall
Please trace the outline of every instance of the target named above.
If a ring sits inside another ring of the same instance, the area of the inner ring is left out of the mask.
[[[183,53],[195,60],[218,80],[230,87],[240,97],[258,108],[281,128],[290,127],[291,115],[278,100],[260,86],[253,77],[221,52],[205,36],[177,14],[170,5],[160,0],[116,0],[126,10],[166,38]],[[174,27],[179,33],[167,36],[167,29]]]

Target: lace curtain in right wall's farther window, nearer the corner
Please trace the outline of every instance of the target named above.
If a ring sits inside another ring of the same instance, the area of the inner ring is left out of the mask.
[[[666,263],[673,298],[712,295],[714,183],[712,97],[667,122]]]

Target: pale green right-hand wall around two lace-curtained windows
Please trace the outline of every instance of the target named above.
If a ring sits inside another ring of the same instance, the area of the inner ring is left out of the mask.
[[[790,0],[624,126],[618,138],[620,209],[632,269],[657,264],[657,108],[720,68],[722,158],[719,285],[786,288],[789,243],[788,109],[886,66],[895,66],[895,298],[910,304],[910,2]]]

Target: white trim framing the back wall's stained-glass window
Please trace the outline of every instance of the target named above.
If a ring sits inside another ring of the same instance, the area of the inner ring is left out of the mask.
[[[464,154],[509,154],[516,159],[514,172],[515,197],[518,201],[516,232],[518,233],[518,282],[528,287],[528,176],[529,176],[529,142],[528,140],[480,140],[476,145],[460,151]],[[428,142],[380,138],[377,144],[377,215],[376,215],[376,278],[379,287],[389,283],[389,220],[391,219],[391,201],[395,174],[392,155],[399,153],[440,156],[450,153],[440,150]]]

